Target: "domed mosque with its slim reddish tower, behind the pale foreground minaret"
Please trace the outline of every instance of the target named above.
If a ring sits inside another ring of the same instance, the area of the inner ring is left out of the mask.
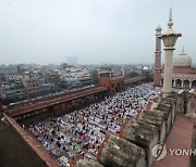
[[[155,52],[155,86],[163,86],[164,66],[161,67],[161,27],[156,29],[156,52]],[[192,65],[192,57],[184,52],[174,56],[172,67],[172,87],[196,88],[196,68]]]

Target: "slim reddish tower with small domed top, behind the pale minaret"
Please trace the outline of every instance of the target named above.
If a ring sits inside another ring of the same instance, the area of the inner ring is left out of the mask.
[[[158,25],[156,29],[156,51],[155,51],[155,75],[154,86],[160,87],[161,82],[161,27]]]

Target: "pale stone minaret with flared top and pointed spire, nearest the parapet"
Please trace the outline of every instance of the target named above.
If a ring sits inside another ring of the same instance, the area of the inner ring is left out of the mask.
[[[173,67],[173,51],[175,50],[174,46],[179,37],[182,37],[182,34],[176,34],[173,29],[172,22],[172,10],[170,9],[169,22],[168,22],[168,31],[161,35],[161,39],[164,44],[164,74],[163,74],[163,93],[164,95],[171,92],[172,88],[172,67]]]

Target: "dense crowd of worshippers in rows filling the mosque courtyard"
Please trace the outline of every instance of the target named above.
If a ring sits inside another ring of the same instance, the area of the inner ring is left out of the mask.
[[[61,166],[79,158],[96,158],[105,136],[118,133],[126,118],[135,118],[160,92],[152,84],[131,87],[101,103],[30,125],[29,130]]]

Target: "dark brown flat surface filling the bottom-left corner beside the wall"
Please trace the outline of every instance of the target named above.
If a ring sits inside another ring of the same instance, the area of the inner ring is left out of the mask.
[[[0,120],[0,166],[46,167],[20,134]]]

